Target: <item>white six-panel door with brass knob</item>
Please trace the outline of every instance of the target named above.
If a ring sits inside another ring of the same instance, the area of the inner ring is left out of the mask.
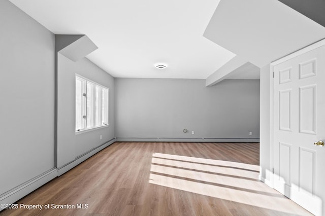
[[[275,65],[273,87],[274,188],[325,215],[325,46]]]

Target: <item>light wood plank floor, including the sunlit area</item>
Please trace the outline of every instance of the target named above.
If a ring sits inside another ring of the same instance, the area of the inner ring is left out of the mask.
[[[258,164],[258,143],[115,142],[17,202],[50,209],[0,214],[310,215],[258,181]]]

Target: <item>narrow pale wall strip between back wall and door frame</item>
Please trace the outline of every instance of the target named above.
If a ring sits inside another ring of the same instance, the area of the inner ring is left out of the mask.
[[[260,103],[260,137],[259,137],[259,165],[261,172],[259,173],[264,181],[268,184],[271,181],[270,172],[272,165],[270,164],[270,64],[261,68],[261,103]]]

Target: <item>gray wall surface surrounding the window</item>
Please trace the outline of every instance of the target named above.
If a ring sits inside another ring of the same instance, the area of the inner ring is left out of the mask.
[[[57,62],[57,167],[61,167],[114,138],[114,78],[87,58],[74,62],[58,53]],[[109,88],[108,127],[75,134],[76,73]]]

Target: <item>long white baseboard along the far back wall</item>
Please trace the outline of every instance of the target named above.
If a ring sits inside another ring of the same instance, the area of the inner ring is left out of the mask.
[[[116,138],[117,142],[259,142],[259,138]]]

